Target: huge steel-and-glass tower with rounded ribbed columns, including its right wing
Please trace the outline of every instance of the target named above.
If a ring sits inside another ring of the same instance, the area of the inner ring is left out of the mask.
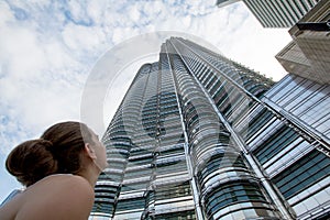
[[[326,219],[330,108],[311,119],[318,103],[330,105],[329,87],[292,75],[274,85],[170,37],[106,131],[91,218]]]

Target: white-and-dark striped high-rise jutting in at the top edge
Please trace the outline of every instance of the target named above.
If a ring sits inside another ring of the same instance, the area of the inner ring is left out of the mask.
[[[264,28],[292,28],[319,0],[243,0],[250,11]],[[217,6],[223,7],[235,1],[218,0]]]

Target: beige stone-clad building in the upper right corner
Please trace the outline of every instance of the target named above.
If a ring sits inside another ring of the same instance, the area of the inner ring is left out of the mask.
[[[330,84],[330,1],[321,0],[289,33],[293,41],[277,55],[292,74]]]

